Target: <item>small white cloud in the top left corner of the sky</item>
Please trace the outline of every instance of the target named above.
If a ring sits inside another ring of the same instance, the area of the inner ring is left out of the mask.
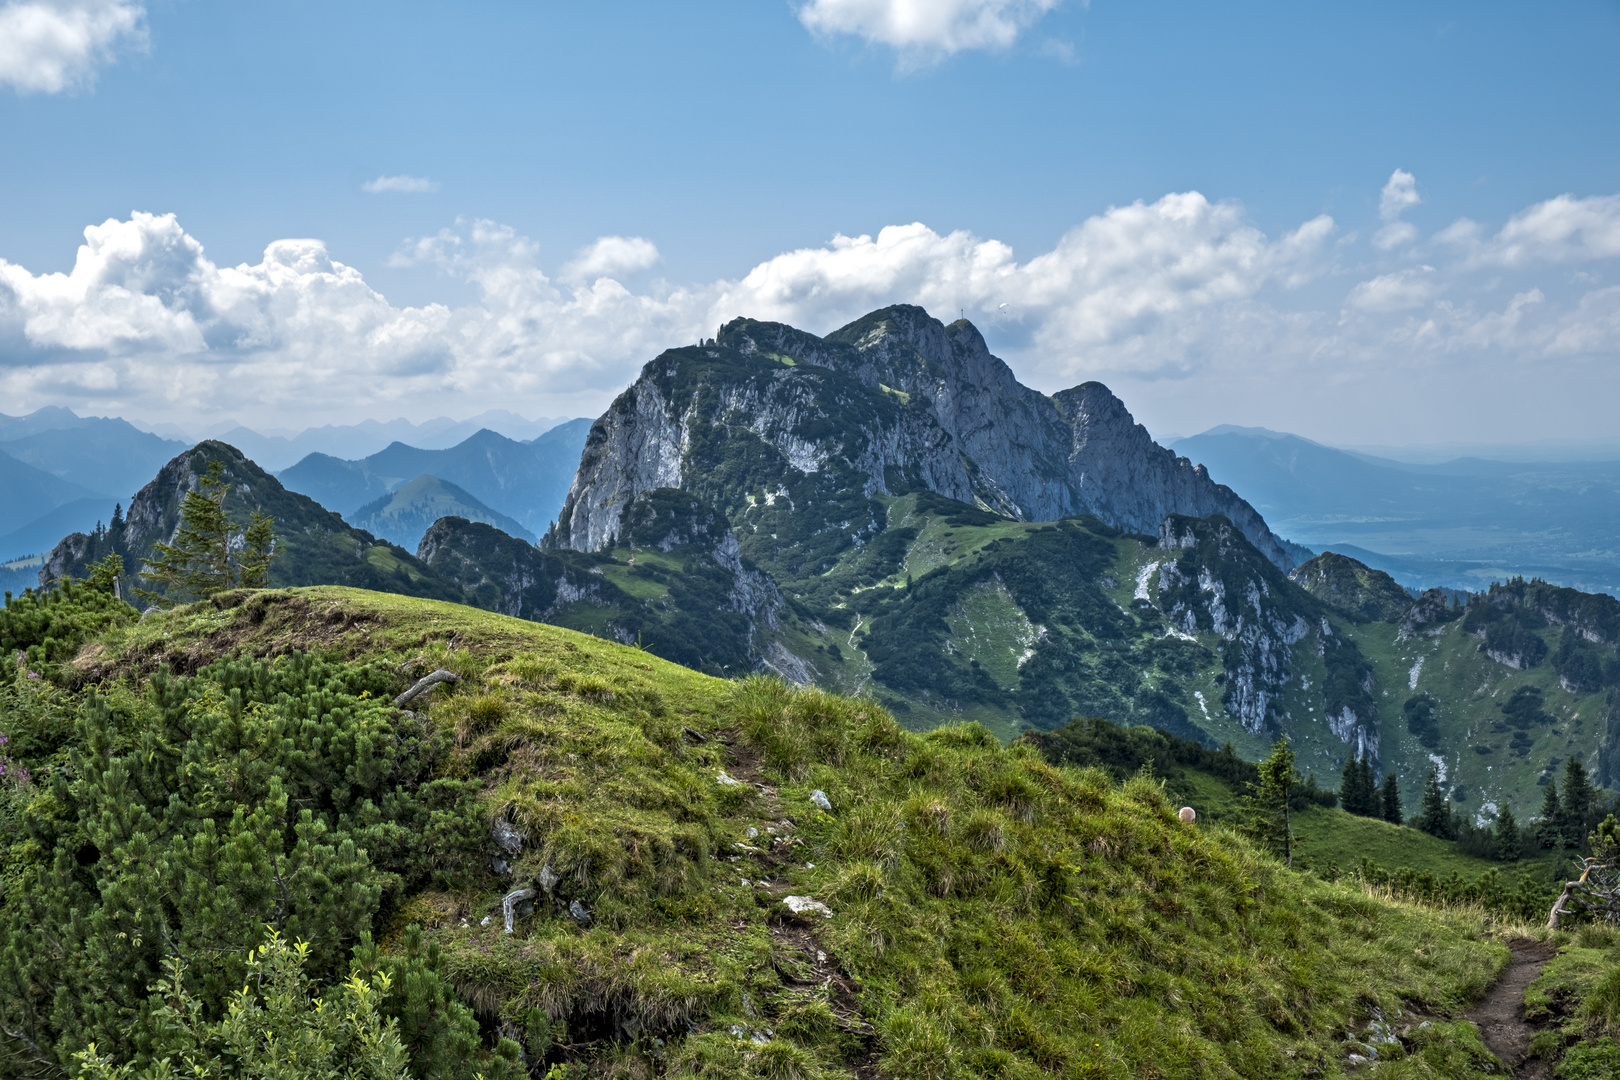
[[[0,5],[0,84],[57,94],[87,86],[118,45],[146,47],[146,8],[130,0]]]

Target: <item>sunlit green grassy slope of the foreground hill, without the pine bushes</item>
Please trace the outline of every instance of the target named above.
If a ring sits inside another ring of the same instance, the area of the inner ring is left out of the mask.
[[[473,780],[480,819],[510,823],[523,847],[509,874],[491,842],[455,868],[462,886],[387,895],[376,933],[397,949],[421,926],[486,1030],[544,1062],[1336,1077],[1346,1028],[1380,1007],[1442,1022],[1388,1075],[1489,1064],[1447,1020],[1505,962],[1477,925],[1285,871],[1221,827],[1181,824],[1157,782],[1058,769],[977,725],[914,735],[872,701],[340,588],[112,628],[63,682],[138,698],[152,672],[207,678],[215,657],[301,649],[387,664],[400,688],[433,667],[462,675],[415,722],[446,733],[442,774]],[[249,743],[275,708],[241,711]],[[538,879],[551,892],[507,936],[501,895]],[[831,915],[795,915],[789,895]]]

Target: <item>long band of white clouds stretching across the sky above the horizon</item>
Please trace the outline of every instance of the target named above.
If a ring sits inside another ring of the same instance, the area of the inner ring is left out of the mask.
[[[1563,196],[1495,233],[1460,222],[1430,262],[1392,257],[1356,277],[1332,219],[1267,235],[1241,206],[1196,191],[1111,207],[1025,257],[914,222],[692,285],[632,277],[659,261],[645,238],[604,236],[548,270],[533,241],[471,220],[394,259],[470,287],[468,301],[423,306],[390,303],[318,240],[277,240],[256,262],[217,266],[173,215],[133,214],[86,228],[65,274],[0,259],[0,398],[264,423],[399,415],[423,402],[436,413],[583,415],[663,348],[731,317],[825,334],[917,303],[948,321],[967,314],[1043,390],[1152,382],[1149,400],[1183,395],[1197,410],[1256,372],[1283,387],[1422,368],[1435,372],[1434,393],[1544,371],[1549,387],[1591,402],[1615,382],[1602,372],[1620,355],[1620,288],[1604,287],[1620,259],[1607,232],[1615,204]],[[1536,277],[1580,259],[1581,280],[1563,267]],[[1586,374],[1565,385],[1563,371]]]

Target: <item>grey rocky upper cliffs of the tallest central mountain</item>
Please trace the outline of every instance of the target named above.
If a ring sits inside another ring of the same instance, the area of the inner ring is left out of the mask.
[[[1106,387],[1048,398],[1019,384],[970,322],[944,325],[912,306],[825,338],[737,319],[711,347],[664,353],[593,426],[546,542],[601,551],[637,494],[713,486],[700,444],[719,427],[750,432],[765,458],[800,476],[854,473],[867,497],[910,479],[1013,518],[1094,513],[1139,533],[1168,513],[1221,513],[1267,559],[1293,565],[1247,502],[1157,445]]]

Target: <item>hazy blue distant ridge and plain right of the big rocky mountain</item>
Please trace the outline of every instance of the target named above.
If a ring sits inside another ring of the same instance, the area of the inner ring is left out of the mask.
[[[1411,465],[1231,426],[1170,445],[1277,533],[1413,588],[1523,575],[1620,594],[1620,461]]]

